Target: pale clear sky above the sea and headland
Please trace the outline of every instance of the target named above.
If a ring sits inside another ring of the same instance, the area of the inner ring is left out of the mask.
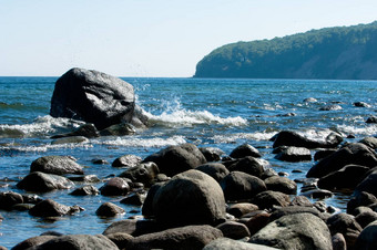
[[[217,46],[376,13],[376,0],[0,0],[0,75],[185,77]]]

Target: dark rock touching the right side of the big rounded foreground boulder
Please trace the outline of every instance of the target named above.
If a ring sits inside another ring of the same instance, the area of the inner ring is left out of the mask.
[[[232,171],[220,183],[226,200],[251,200],[261,191],[267,190],[265,183],[258,177],[243,171]]]

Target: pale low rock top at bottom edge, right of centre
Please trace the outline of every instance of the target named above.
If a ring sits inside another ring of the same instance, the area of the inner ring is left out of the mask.
[[[211,241],[211,243],[203,248],[203,250],[273,250],[273,249],[276,248],[243,242],[230,238],[218,238],[216,240]]]

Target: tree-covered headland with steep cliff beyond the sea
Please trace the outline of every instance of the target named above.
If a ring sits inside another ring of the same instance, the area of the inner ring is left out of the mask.
[[[227,44],[194,77],[377,80],[377,21]]]

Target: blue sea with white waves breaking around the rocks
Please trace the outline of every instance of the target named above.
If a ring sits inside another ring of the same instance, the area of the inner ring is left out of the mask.
[[[93,174],[104,180],[124,170],[111,166],[122,155],[144,158],[164,147],[184,143],[217,147],[225,155],[247,143],[263,154],[276,173],[302,179],[315,162],[275,159],[269,139],[276,133],[288,129],[323,139],[330,132],[338,132],[345,142],[377,135],[377,125],[366,123],[377,112],[377,81],[122,77],[134,86],[136,103],[149,116],[151,126],[137,129],[135,135],[57,145],[51,136],[83,124],[49,115],[57,79],[0,77],[0,191],[26,194],[16,185],[29,174],[31,163],[41,156],[73,156],[84,166],[86,175]],[[356,102],[367,105],[358,107]],[[335,108],[320,111],[328,105]],[[355,138],[347,138],[349,135]],[[109,164],[95,165],[93,159],[104,159]],[[302,171],[293,171],[297,169]],[[68,206],[79,205],[84,211],[42,219],[27,211],[0,210],[4,218],[0,222],[0,246],[12,248],[45,231],[102,233],[114,221],[141,215],[140,207],[121,205],[119,201],[123,197],[73,197],[70,191],[38,195]],[[334,192],[323,201],[343,211],[349,195]],[[95,210],[106,201],[123,207],[126,212],[114,218],[98,217]]]

